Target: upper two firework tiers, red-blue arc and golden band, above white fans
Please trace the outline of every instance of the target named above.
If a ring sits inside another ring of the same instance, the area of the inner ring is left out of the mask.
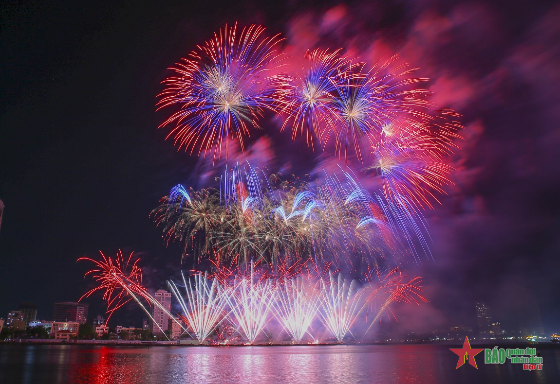
[[[292,140],[305,136],[312,147],[334,147],[345,162],[365,164],[362,171],[374,179],[368,184],[379,189],[356,200],[358,182],[326,176],[311,188],[301,180],[278,184],[281,177],[250,165],[226,166],[219,192],[179,185],[162,200],[153,215],[166,238],[183,244],[195,264],[248,265],[288,255],[362,266],[385,259],[398,243],[409,245],[415,257],[416,249],[429,254],[423,211],[450,183],[445,157],[459,138],[458,115],[433,111],[427,91],[418,87],[427,79],[396,64],[397,56],[369,65],[341,49],[308,50],[290,72],[279,59],[280,41],[259,26],[220,30],[165,80],[160,106],[180,110],[162,126],[175,125],[170,135],[180,147],[199,154],[215,150],[220,157],[230,139],[243,149],[250,127],[270,110]],[[357,179],[349,169],[344,176]],[[354,262],[333,252],[341,248]]]

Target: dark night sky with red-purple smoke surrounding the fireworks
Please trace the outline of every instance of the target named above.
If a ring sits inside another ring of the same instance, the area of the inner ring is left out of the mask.
[[[91,281],[76,259],[98,250],[141,254],[151,288],[176,273],[180,249],[148,215],[197,159],[157,130],[156,95],[166,68],[238,21],[292,46],[400,54],[464,116],[454,185],[426,213],[434,260],[408,271],[430,303],[398,308],[403,328],[473,324],[486,300],[506,327],[540,317],[560,331],[558,4],[302,3],[2,2],[1,317],[30,301],[48,319],[77,300]],[[266,140],[252,150],[275,156]]]

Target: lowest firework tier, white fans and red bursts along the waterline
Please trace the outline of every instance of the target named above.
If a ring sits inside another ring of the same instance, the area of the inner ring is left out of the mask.
[[[99,286],[87,292],[85,297],[103,291],[105,300],[109,302],[110,314],[134,300],[154,321],[142,303],[145,300],[180,324],[141,285],[138,260],[129,263],[132,254],[128,262],[125,262],[122,253],[115,260],[101,255],[102,260],[82,258],[100,268],[87,273],[94,274]],[[425,301],[420,294],[420,279],[407,281],[397,269],[385,276],[378,272],[379,282],[367,276],[366,283],[358,286],[359,282],[350,282],[341,274],[337,279],[336,272],[327,272],[314,263],[290,264],[287,260],[284,259],[279,264],[282,267],[275,270],[255,269],[251,264],[244,269],[221,268],[213,276],[195,272],[189,279],[183,276],[184,294],[174,282],[169,281],[169,287],[183,311],[181,318],[187,324],[187,329],[182,325],[181,328],[202,344],[211,338],[218,325],[224,324],[247,344],[253,344],[270,321],[277,319],[295,343],[301,343],[305,335],[316,339],[311,335],[314,324],[323,324],[330,337],[342,342],[349,334],[356,338],[352,328],[358,324],[363,328],[367,326],[367,333],[381,313],[394,302]],[[122,272],[127,267],[132,267],[132,272],[124,275]],[[368,317],[374,317],[374,320],[367,320]],[[160,330],[164,333],[163,329]],[[268,332],[265,334],[268,337]]]

